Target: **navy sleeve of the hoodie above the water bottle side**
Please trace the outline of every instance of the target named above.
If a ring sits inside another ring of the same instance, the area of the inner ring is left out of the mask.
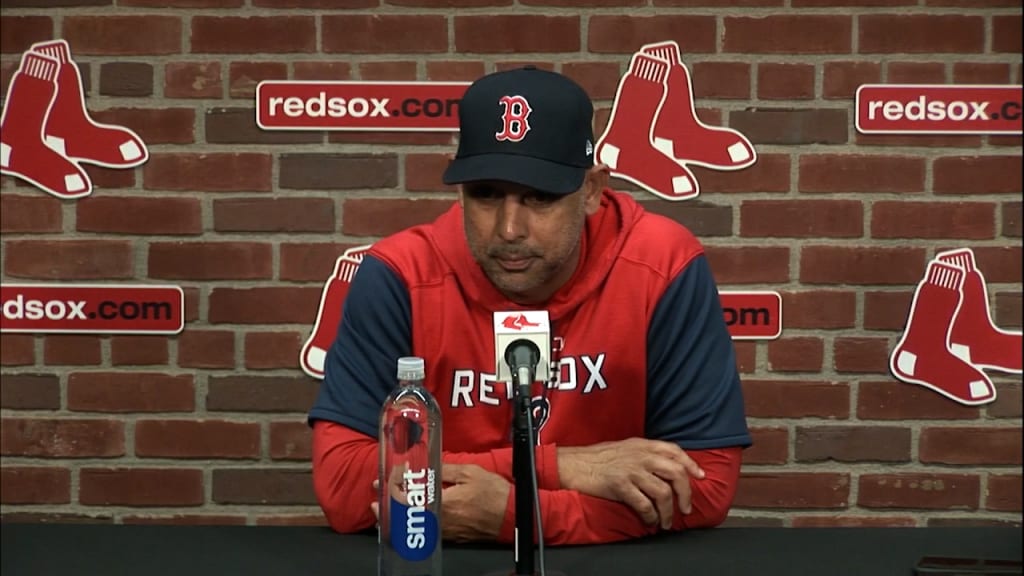
[[[397,382],[395,362],[412,353],[412,333],[404,283],[367,255],[345,297],[309,423],[330,420],[377,438],[380,408]]]

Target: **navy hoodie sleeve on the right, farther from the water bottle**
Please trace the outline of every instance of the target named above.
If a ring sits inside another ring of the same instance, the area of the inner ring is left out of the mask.
[[[732,337],[703,255],[672,281],[648,326],[646,433],[687,450],[752,444]]]

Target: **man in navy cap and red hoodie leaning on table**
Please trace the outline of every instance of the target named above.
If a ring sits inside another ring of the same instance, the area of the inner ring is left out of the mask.
[[[731,338],[702,248],[607,190],[593,107],[564,76],[485,76],[444,173],[459,201],[366,255],[309,413],[331,526],[375,524],[377,418],[402,356],[426,360],[443,414],[442,533],[513,540],[512,406],[494,382],[496,311],[546,310],[561,373],[537,471],[545,541],[710,527],[751,443]]]

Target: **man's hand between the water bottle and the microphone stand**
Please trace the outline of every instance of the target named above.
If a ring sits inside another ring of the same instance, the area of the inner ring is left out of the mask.
[[[475,464],[443,464],[441,534],[446,540],[495,540],[505,521],[512,485]]]

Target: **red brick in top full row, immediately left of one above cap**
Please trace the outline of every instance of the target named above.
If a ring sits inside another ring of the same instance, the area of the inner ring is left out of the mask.
[[[345,14],[323,15],[321,20],[328,53],[445,52],[449,48],[443,15]]]

